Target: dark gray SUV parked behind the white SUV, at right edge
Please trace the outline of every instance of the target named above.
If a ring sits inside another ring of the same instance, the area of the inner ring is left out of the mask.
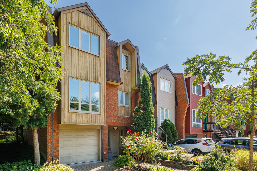
[[[230,152],[235,148],[250,148],[250,138],[221,138],[221,141],[217,143],[225,149],[225,151]],[[253,138],[253,150],[257,151],[257,138]]]

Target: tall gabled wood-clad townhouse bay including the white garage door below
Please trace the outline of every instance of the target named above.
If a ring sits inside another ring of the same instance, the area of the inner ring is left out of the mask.
[[[62,46],[61,100],[39,130],[40,151],[61,164],[101,161],[106,125],[106,38],[110,35],[87,3],[54,10],[54,44]],[[108,155],[105,154],[106,156]]]

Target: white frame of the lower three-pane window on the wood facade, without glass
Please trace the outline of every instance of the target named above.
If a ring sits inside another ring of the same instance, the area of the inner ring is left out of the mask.
[[[70,101],[70,78],[72,79],[77,79],[79,80],[79,102],[71,102]],[[87,104],[87,103],[81,103],[81,81],[86,81],[89,82],[89,111],[85,111],[85,110],[81,110],[81,104]],[[95,84],[99,84],[99,105],[94,105],[94,106],[99,106],[99,112],[92,112],[91,111],[91,83],[95,83]],[[100,83],[96,83],[96,82],[92,82],[92,81],[87,81],[87,80],[83,80],[83,79],[79,79],[79,78],[75,78],[75,77],[70,77],[69,76],[69,112],[78,112],[78,113],[92,113],[92,114],[101,114],[101,106],[100,106],[100,97],[101,97],[101,91],[100,91],[101,85]],[[78,103],[79,104],[79,110],[72,110],[70,109],[70,103]]]

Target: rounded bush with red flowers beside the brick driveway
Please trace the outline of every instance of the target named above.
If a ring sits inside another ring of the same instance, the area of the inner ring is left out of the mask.
[[[161,149],[161,142],[154,136],[149,136],[150,134],[151,132],[147,134],[142,132],[139,135],[139,133],[131,133],[131,130],[128,130],[126,137],[121,137],[121,146],[124,152],[135,159],[131,161],[132,166],[137,165],[136,167],[140,168],[143,164],[153,161],[157,152]]]

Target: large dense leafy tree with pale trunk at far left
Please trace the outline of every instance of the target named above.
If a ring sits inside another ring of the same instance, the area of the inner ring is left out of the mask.
[[[44,40],[57,27],[43,0],[1,1],[0,10],[0,114],[14,128],[31,127],[34,160],[40,165],[37,129],[47,125],[46,116],[60,99],[56,85],[62,70],[56,64],[63,62],[61,47]]]

